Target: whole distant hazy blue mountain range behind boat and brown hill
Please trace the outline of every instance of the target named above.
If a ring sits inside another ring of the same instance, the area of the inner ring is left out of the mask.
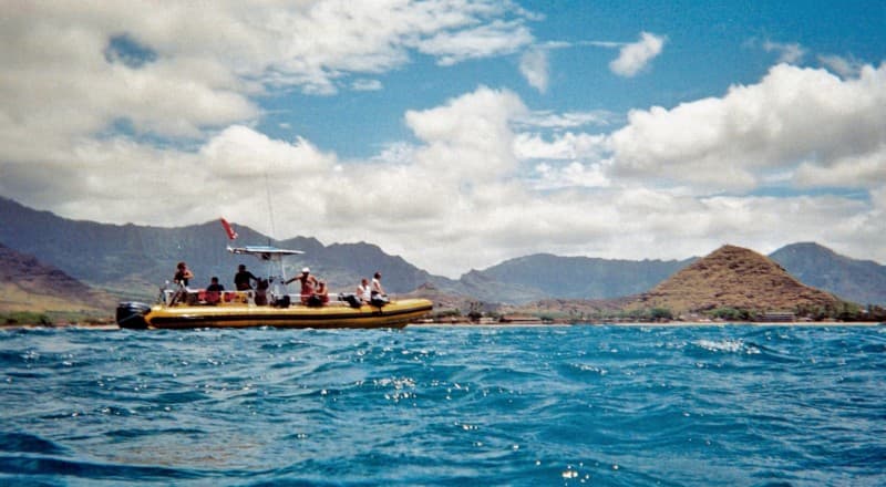
[[[480,302],[518,304],[546,299],[615,299],[638,294],[698,259],[631,261],[536,253],[472,270],[454,280],[433,276],[372,244],[326,246],[312,237],[276,241],[247,226],[236,227],[238,244],[270,242],[306,250],[306,256],[290,261],[288,273],[309,266],[327,280],[333,291],[351,291],[361,277],[381,270],[385,288],[392,293],[405,293],[430,284],[436,292]],[[172,279],[175,263],[179,260],[187,261],[197,272],[197,286],[204,286],[212,276],[218,276],[225,286],[230,287],[238,263],[247,265],[257,273],[264,271],[261,262],[256,259],[233,257],[220,245],[222,241],[226,242],[227,236],[216,220],[176,228],[99,224],[65,219],[0,197],[0,242],[117,296],[153,299],[157,286]],[[785,253],[780,249],[773,252],[773,257],[811,251],[808,246],[793,246],[783,248],[793,248],[792,252]],[[867,297],[882,299],[868,302],[886,303],[886,283],[878,283],[886,282],[886,267],[874,261],[848,259],[822,246],[812,247],[812,250],[817,250],[820,257],[800,257],[795,259],[799,262],[785,259],[784,268],[800,277],[806,276],[804,279],[813,279],[816,273],[839,276],[841,279],[831,279],[822,289],[859,303],[866,303],[864,299]],[[804,267],[804,259],[815,263]],[[841,270],[847,266],[865,268],[872,273],[869,282],[874,284],[854,282],[854,277],[863,272],[855,268]],[[837,269],[824,271],[831,267]],[[869,292],[872,287],[879,293]],[[868,292],[861,293],[865,289]]]

